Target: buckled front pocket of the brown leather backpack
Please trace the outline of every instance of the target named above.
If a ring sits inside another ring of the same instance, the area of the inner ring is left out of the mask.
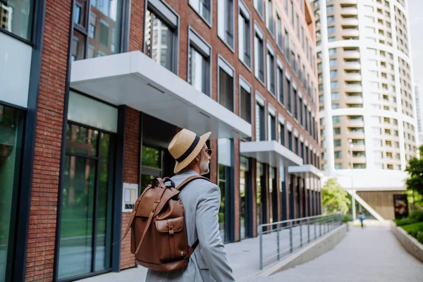
[[[156,221],[157,255],[160,262],[172,262],[187,255],[187,231],[183,216]]]

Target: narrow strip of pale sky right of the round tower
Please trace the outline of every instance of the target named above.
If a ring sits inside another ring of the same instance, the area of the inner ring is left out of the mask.
[[[412,66],[414,68],[414,79],[415,79],[415,83],[417,83],[419,87],[420,111],[423,112],[423,1],[422,0],[408,0],[408,18],[410,21]]]

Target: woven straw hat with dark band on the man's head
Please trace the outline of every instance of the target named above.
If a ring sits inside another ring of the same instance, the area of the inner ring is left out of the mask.
[[[173,159],[176,160],[174,173],[178,173],[183,168],[191,164],[191,161],[200,154],[202,147],[209,139],[211,132],[205,133],[201,136],[193,133],[191,130],[183,129],[173,137],[168,146]]]

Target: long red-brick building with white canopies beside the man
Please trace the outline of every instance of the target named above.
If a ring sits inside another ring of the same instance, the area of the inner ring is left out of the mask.
[[[212,131],[221,237],[321,214],[305,1],[0,1],[0,281],[135,266],[116,243],[168,142]]]

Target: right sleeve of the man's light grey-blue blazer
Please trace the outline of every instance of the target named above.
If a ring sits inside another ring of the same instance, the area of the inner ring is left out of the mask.
[[[214,280],[235,281],[219,233],[220,201],[219,187],[208,183],[197,204],[196,225],[200,252]]]

